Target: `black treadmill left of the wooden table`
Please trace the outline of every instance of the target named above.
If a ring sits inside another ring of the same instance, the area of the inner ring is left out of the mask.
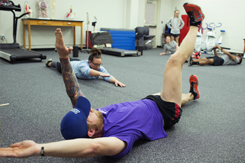
[[[33,59],[33,58],[40,58],[41,60],[46,59],[46,56],[43,56],[40,53],[21,49],[19,44],[16,43],[18,19],[20,19],[21,17],[29,13],[24,13],[19,17],[16,17],[14,11],[21,11],[20,5],[15,5],[12,1],[0,1],[0,2],[1,2],[0,10],[11,11],[13,13],[13,39],[14,39],[14,42],[12,44],[9,43],[0,44],[0,57],[10,62]]]

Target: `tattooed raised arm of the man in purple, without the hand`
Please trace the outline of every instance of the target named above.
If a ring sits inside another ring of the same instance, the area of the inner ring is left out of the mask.
[[[83,96],[75,73],[71,67],[70,59],[60,59],[61,72],[66,87],[66,93],[71,99],[72,106],[75,107],[77,98]]]

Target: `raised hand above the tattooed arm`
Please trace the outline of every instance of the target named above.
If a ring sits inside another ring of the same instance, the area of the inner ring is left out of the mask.
[[[60,58],[68,58],[69,54],[72,52],[72,47],[67,48],[64,43],[63,35],[60,28],[57,28],[55,31],[55,47],[59,54]]]

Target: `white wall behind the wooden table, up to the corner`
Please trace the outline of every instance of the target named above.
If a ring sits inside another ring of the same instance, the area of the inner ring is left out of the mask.
[[[20,4],[22,7],[22,12],[16,12],[19,16],[24,12],[24,4],[26,0],[15,1],[16,4]],[[37,5],[36,0],[29,0],[29,5],[33,10],[32,17],[37,18]],[[46,0],[50,5],[51,0]],[[94,16],[97,17],[96,30],[100,30],[101,27],[110,28],[122,28],[125,24],[124,14],[125,14],[125,1],[124,0],[69,0],[62,1],[56,0],[56,12],[55,19],[65,19],[67,12],[72,6],[73,12],[76,13],[74,20],[84,21],[83,25],[83,43],[85,44],[85,30],[87,29],[87,12],[90,16],[89,30],[92,30],[91,22],[94,21]],[[51,11],[48,12],[51,17]],[[0,11],[0,34],[4,34],[9,43],[13,42],[13,14],[10,11]],[[31,43],[32,48],[40,47],[54,47],[54,30],[57,27],[31,27]],[[73,44],[73,30],[69,27],[62,27],[63,34],[65,37],[65,43],[67,46],[72,46]],[[76,44],[80,44],[80,27],[76,28],[77,37]],[[27,37],[27,27],[26,27],[26,41],[28,43]],[[17,42],[23,45],[23,32],[22,32],[22,22],[18,22],[17,28]],[[28,47],[28,46],[27,46]]]

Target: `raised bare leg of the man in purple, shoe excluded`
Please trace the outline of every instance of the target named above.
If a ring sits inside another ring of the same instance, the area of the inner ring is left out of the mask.
[[[182,83],[181,71],[183,64],[192,55],[198,27],[190,26],[190,30],[178,50],[168,60],[163,78],[163,88],[160,93],[164,101],[174,102],[181,107]]]

